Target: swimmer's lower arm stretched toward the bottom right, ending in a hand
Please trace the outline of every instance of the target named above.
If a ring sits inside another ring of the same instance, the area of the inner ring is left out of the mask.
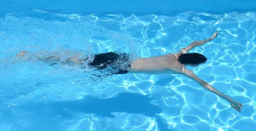
[[[236,102],[234,100],[232,100],[231,98],[229,98],[228,96],[226,96],[225,94],[222,94],[221,92],[219,92],[218,90],[216,90],[213,86],[211,86],[210,84],[208,84],[207,82],[205,82],[204,80],[198,78],[194,72],[192,70],[187,70],[186,68],[184,69],[183,74],[185,76],[187,76],[188,78],[191,78],[193,80],[195,80],[196,82],[198,82],[202,87],[204,87],[206,90],[220,96],[221,98],[227,100],[230,103],[230,106],[232,106],[232,108],[234,108],[237,111],[241,111],[243,105],[240,104],[239,102]]]

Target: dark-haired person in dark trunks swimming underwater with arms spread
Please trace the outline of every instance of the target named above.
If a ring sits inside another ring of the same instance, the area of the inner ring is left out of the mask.
[[[196,46],[203,45],[208,41],[213,40],[218,36],[218,31],[216,31],[210,38],[204,39],[202,41],[194,41],[185,48],[182,48],[178,53],[167,54],[157,57],[147,57],[147,58],[138,58],[133,62],[126,64],[125,67],[118,68],[116,70],[117,60],[128,61],[129,55],[126,53],[101,53],[94,56],[94,60],[88,63],[88,65],[93,66],[99,70],[113,66],[115,71],[112,74],[126,74],[126,73],[146,73],[146,74],[183,74],[188,78],[198,82],[206,90],[220,96],[230,103],[230,106],[237,111],[241,111],[242,104],[236,102],[216,90],[212,85],[200,79],[192,70],[188,70],[185,66],[198,66],[202,63],[205,63],[207,58],[204,55],[199,53],[187,53]],[[26,51],[21,51],[16,56],[20,57],[26,54]],[[68,63],[84,63],[88,59],[79,60],[78,57],[72,57],[67,59]],[[41,61],[60,61],[58,57],[47,57],[46,59],[40,59]],[[66,63],[65,62],[65,63]],[[114,66],[115,65],[115,66]]]

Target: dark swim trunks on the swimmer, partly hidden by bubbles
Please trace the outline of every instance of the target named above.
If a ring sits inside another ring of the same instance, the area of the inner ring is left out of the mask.
[[[88,63],[88,65],[98,68],[99,70],[111,67],[113,74],[126,74],[131,67],[129,58],[127,53],[101,53],[95,55],[94,60]]]

